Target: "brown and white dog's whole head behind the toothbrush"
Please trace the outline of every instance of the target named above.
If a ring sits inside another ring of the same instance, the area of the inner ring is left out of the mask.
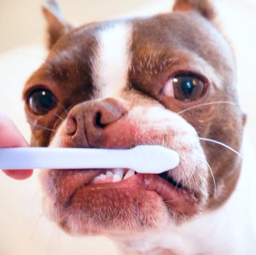
[[[209,3],[176,1],[171,13],[76,29],[44,13],[49,54],[24,90],[31,145],[157,144],[180,155],[179,166],[161,175],[41,170],[49,218],[72,234],[130,235],[222,205],[240,160],[198,137],[239,150],[243,114],[234,106],[232,51],[211,22]]]

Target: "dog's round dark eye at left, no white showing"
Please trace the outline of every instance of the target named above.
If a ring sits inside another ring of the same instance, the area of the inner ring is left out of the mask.
[[[37,89],[28,97],[30,110],[36,115],[45,115],[56,107],[57,100],[53,93],[46,89]]]

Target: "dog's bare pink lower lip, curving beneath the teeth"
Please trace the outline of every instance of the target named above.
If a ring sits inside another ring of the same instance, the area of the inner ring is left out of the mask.
[[[166,204],[179,213],[191,216],[198,213],[197,204],[200,201],[200,197],[186,189],[176,187],[159,175],[137,173],[128,179],[118,182],[113,182],[113,177],[108,177],[105,180],[94,183],[93,179],[98,174],[99,171],[97,171],[96,174],[91,175],[90,178],[87,176],[87,180],[84,182],[86,184],[76,188],[70,196],[69,202],[72,203],[72,200],[76,197],[77,191],[79,191],[79,193],[108,192],[109,189],[122,190],[136,187],[138,189],[142,188],[148,192],[156,192],[163,198]]]

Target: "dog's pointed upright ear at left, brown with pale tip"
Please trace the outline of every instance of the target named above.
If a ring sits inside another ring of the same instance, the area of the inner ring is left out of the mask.
[[[72,26],[63,20],[59,5],[54,0],[46,0],[42,10],[47,21],[48,49],[51,49],[63,34],[72,29]]]

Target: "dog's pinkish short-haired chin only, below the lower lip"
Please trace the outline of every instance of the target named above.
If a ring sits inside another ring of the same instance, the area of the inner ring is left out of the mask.
[[[70,234],[118,236],[168,224],[167,208],[155,192],[139,187],[85,189],[77,191],[59,223]]]

